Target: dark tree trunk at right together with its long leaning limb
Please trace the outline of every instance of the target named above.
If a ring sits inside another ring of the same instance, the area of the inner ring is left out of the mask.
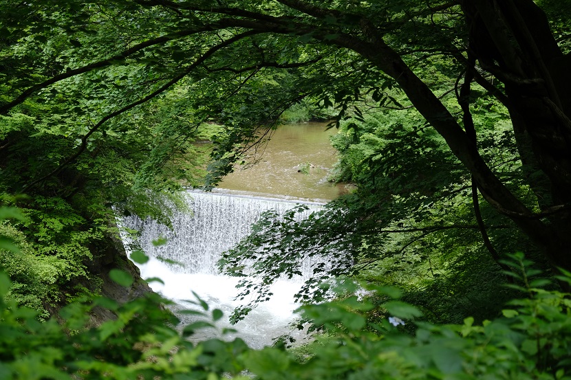
[[[524,165],[541,172],[529,183],[541,197],[544,214],[529,210],[510,192],[480,156],[462,126],[389,47],[374,27],[363,23],[368,41],[337,41],[374,62],[394,78],[416,109],[444,137],[468,168],[494,208],[510,217],[544,252],[553,267],[571,271],[571,122],[570,71],[550,33],[546,16],[531,0],[466,0],[471,54],[505,85]],[[537,173],[536,173],[537,174]],[[533,177],[530,177],[530,179]],[[548,195],[548,197],[546,197]],[[549,198],[549,199],[546,199]]]

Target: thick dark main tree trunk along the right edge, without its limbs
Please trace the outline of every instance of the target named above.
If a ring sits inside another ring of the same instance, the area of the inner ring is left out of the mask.
[[[569,270],[571,223],[564,206],[571,201],[571,56],[563,56],[545,14],[531,0],[517,5],[512,0],[464,1],[463,6],[480,64],[506,87],[519,150],[532,153],[522,160],[548,178],[550,199],[536,191],[547,210],[548,239],[541,248],[552,265]]]

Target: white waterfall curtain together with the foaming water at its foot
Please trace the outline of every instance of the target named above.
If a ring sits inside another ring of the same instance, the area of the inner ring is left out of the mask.
[[[262,212],[276,210],[281,214],[296,203],[204,192],[188,192],[187,196],[192,212],[176,214],[173,230],[134,216],[123,219],[122,225],[141,232],[138,243],[151,258],[145,265],[139,265],[141,275],[143,278],[158,277],[164,281],[164,284],[151,282],[154,291],[182,307],[192,306],[185,300],[193,300],[192,291],[195,291],[208,302],[211,309],[224,311],[226,317],[219,327],[229,327],[228,315],[244,301],[234,300],[237,279],[217,272],[216,263],[220,254],[244,238],[250,232],[250,225],[257,221]],[[299,215],[300,219],[321,208],[317,203],[308,206],[310,210]],[[160,237],[166,238],[166,244],[155,247],[153,241]],[[166,264],[158,258],[175,260],[182,265]],[[288,333],[287,325],[292,322],[292,311],[297,307],[293,295],[300,286],[301,282],[295,280],[281,280],[274,284],[272,300],[264,302],[250,312],[244,321],[233,326],[239,331],[237,335],[250,346],[260,348],[272,344],[274,337]],[[183,323],[192,322],[186,315],[180,317]],[[219,336],[216,331],[204,331],[202,334],[194,339]]]

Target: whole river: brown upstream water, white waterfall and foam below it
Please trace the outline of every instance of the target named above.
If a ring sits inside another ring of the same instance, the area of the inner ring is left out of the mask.
[[[297,202],[308,203],[310,212],[321,204],[338,197],[343,189],[327,182],[327,170],[334,164],[335,151],[329,137],[335,130],[325,132],[325,123],[281,126],[263,152],[261,161],[249,168],[236,168],[213,193],[188,192],[186,197],[192,212],[179,213],[173,230],[154,221],[125,218],[122,224],[139,230],[138,243],[151,257],[140,265],[143,278],[161,278],[151,282],[153,290],[174,300],[180,309],[196,309],[193,292],[206,300],[211,309],[221,309],[225,317],[216,328],[202,331],[193,339],[222,337],[223,328],[230,327],[228,316],[240,304],[236,278],[217,272],[220,254],[237,244],[250,232],[261,212],[286,212]],[[301,168],[305,167],[306,170]],[[299,171],[301,170],[301,171]],[[306,172],[305,172],[306,171]],[[166,245],[155,247],[153,241],[164,237]],[[163,258],[182,265],[166,264]],[[310,270],[310,269],[309,269]],[[274,284],[272,300],[263,302],[236,326],[238,333],[225,339],[241,337],[253,348],[272,344],[272,339],[291,332],[288,324],[294,320],[297,305],[293,295],[299,291],[302,279],[281,280]],[[177,310],[174,310],[177,313]],[[200,317],[179,314],[184,324]]]

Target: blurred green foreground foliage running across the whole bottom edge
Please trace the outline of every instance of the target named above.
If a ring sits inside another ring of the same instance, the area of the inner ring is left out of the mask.
[[[532,270],[521,256],[513,260],[527,273]],[[563,278],[571,282],[571,277]],[[222,316],[217,309],[209,313],[200,298],[195,304],[201,311],[193,313],[206,320],[186,326],[182,333],[162,306],[169,302],[155,294],[122,306],[105,298],[70,304],[61,310],[62,324],[54,318],[40,323],[34,311],[6,300],[10,280],[0,273],[0,374],[18,380],[212,380],[249,375],[268,380],[569,379],[569,294],[523,286],[528,298],[510,302],[502,316],[482,325],[472,317],[461,324],[415,322],[420,311],[398,300],[397,289],[387,287],[365,287],[364,299],[352,295],[302,306],[305,320],[320,326],[322,333],[297,360],[283,346],[252,350],[241,339],[188,342],[185,337],[211,328]],[[116,312],[117,319],[83,327],[85,313],[94,306]],[[377,310],[385,313],[383,319],[371,319]]]

